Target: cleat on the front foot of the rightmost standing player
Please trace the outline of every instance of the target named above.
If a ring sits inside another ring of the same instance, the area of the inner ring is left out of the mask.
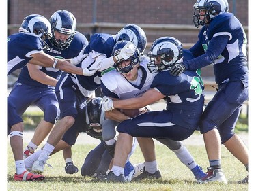
[[[218,181],[223,184],[227,184],[227,179],[223,173],[222,169],[214,169],[212,167],[207,167],[208,172],[206,176],[202,179],[197,180],[199,184],[203,184],[211,181]]]

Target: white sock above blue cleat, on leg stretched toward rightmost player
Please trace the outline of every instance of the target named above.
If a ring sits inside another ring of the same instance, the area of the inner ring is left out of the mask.
[[[177,158],[180,159],[180,161],[188,167],[188,169],[193,169],[197,166],[197,163],[194,161],[193,156],[190,154],[190,152],[182,145],[180,149],[173,150],[173,152],[177,155]]]

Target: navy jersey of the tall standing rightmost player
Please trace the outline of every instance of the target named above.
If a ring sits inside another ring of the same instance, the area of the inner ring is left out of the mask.
[[[229,40],[221,55],[214,60],[214,75],[217,84],[227,81],[243,82],[244,86],[248,86],[248,67],[246,58],[246,34],[242,28],[242,24],[231,13],[223,13],[218,15],[209,25],[203,26],[199,32],[200,48],[195,48],[193,55],[204,54],[205,52],[214,52],[212,46],[208,46],[213,38],[227,35]],[[221,44],[221,41],[219,42]],[[220,46],[220,44],[216,46]],[[202,51],[204,50],[204,52]],[[190,60],[189,69],[198,69],[204,66],[203,60],[197,58]]]

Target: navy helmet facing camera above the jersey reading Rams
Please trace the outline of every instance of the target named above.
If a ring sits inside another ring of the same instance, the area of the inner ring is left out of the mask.
[[[76,18],[74,15],[66,10],[59,10],[51,16],[50,23],[53,33],[53,37],[50,40],[51,43],[59,50],[68,48],[76,34]],[[54,31],[69,35],[69,37],[66,41],[58,40],[55,38]]]

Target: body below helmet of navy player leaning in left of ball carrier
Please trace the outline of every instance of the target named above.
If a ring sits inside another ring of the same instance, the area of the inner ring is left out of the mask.
[[[106,63],[109,64],[106,68],[109,68],[115,61],[111,53],[115,42],[119,40],[119,36],[121,36],[120,33],[117,33],[117,35],[109,35],[106,33],[96,33],[92,35],[89,45],[84,49],[84,53],[87,57],[76,66],[82,67],[83,69],[92,68],[93,70],[98,69],[102,71],[104,68],[100,69],[100,63]],[[40,174],[43,173],[44,164],[48,156],[61,137],[63,137],[63,134],[74,124],[77,115],[75,107],[76,99],[80,97],[91,98],[94,96],[94,90],[100,87],[100,71],[97,71],[91,76],[61,73],[60,80],[57,82],[55,88],[55,93],[59,101],[61,120],[59,120],[58,124],[53,128],[53,131],[51,131],[48,141],[42,150],[42,154],[40,154],[38,160],[33,164],[32,171]]]

